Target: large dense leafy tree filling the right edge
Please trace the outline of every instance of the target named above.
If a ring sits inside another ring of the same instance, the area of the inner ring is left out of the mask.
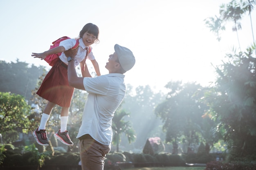
[[[256,158],[255,46],[229,53],[228,62],[216,67],[216,86],[205,96],[216,130],[227,142],[229,159]]]

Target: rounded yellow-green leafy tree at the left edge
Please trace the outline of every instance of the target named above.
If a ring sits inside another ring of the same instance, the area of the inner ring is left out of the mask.
[[[6,143],[17,140],[17,137],[8,137],[9,132],[18,131],[27,133],[30,130],[30,106],[21,95],[0,92],[0,132]],[[17,135],[16,135],[17,136]]]

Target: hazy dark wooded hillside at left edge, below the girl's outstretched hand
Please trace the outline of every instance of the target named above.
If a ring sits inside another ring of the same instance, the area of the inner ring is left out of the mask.
[[[36,86],[38,77],[45,71],[43,66],[36,67],[25,62],[7,63],[0,61],[0,91],[22,95],[26,100],[31,97],[31,90]],[[4,82],[4,83],[3,83]]]

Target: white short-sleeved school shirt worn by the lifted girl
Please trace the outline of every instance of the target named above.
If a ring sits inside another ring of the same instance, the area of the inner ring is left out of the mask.
[[[63,46],[65,48],[65,51],[72,49],[72,47],[76,44],[76,40],[75,39],[67,39],[67,40],[63,40],[62,42],[60,42],[60,46]],[[83,43],[83,40],[80,38],[79,39],[79,46],[77,47],[79,48],[77,51],[77,54],[75,56],[75,60],[77,62],[75,62],[75,66],[78,66],[79,63],[81,61],[83,61],[83,59],[85,58],[86,55],[86,46]],[[67,56],[68,57],[68,56]],[[65,64],[67,64],[67,57],[65,56],[64,52],[61,53],[61,56],[59,57],[61,59],[62,62],[64,62]],[[95,60],[95,57],[92,53],[92,46],[91,46],[91,52],[87,55],[87,58],[89,60]]]

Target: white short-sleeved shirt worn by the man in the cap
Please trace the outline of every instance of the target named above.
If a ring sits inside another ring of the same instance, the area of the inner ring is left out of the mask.
[[[89,134],[99,143],[111,145],[112,118],[126,93],[124,77],[119,73],[84,77],[83,85],[89,94],[77,138]]]

